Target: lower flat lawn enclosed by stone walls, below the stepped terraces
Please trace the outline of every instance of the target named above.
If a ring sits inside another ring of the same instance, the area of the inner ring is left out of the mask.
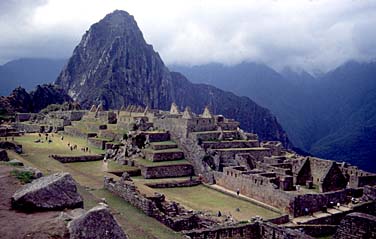
[[[264,219],[270,219],[280,215],[203,185],[182,188],[158,188],[155,190],[166,195],[169,200],[179,202],[194,210],[207,211],[212,215],[216,215],[218,211],[221,211],[224,215],[231,214],[237,220],[249,220],[256,215]],[[236,208],[239,208],[240,211],[237,212]]]

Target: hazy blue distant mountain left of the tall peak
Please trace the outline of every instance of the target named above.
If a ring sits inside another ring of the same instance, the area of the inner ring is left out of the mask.
[[[9,95],[18,86],[32,90],[55,81],[66,59],[23,58],[0,66],[0,95]]]

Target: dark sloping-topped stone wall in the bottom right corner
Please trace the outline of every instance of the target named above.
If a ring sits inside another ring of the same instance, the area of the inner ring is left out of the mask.
[[[333,239],[376,238],[376,217],[364,213],[350,213],[339,225]]]

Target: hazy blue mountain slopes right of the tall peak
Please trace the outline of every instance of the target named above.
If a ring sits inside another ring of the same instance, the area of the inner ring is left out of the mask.
[[[319,78],[256,63],[171,68],[269,108],[295,146],[376,171],[375,62],[347,62]]]

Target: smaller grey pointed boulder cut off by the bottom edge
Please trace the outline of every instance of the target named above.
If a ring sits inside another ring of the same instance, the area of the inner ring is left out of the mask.
[[[126,239],[110,210],[97,206],[68,224],[70,239]]]

